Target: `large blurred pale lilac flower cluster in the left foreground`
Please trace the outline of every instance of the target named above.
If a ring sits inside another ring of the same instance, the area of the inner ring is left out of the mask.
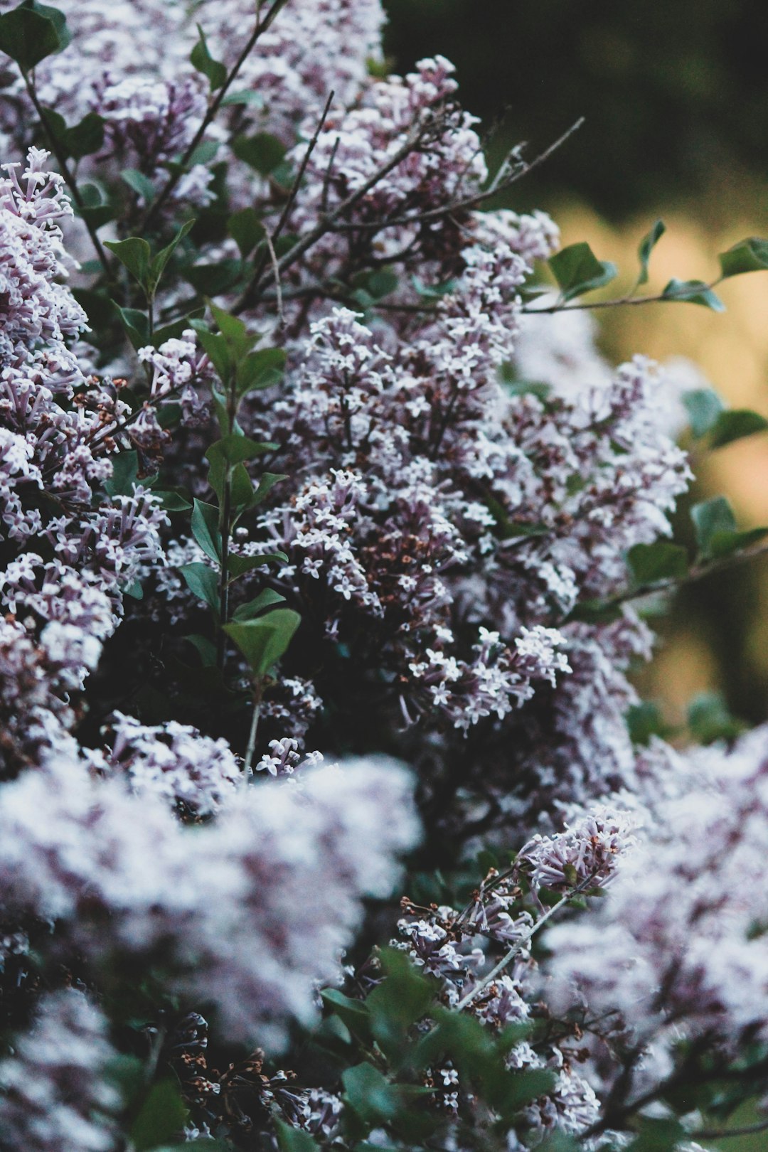
[[[216,821],[185,829],[157,788],[131,796],[61,760],[26,772],[0,790],[3,905],[59,920],[61,947],[96,965],[164,955],[172,985],[215,1003],[229,1034],[274,1047],[287,1017],[312,1015],[360,897],[390,890],[417,836],[402,768],[297,780],[230,793]]]

